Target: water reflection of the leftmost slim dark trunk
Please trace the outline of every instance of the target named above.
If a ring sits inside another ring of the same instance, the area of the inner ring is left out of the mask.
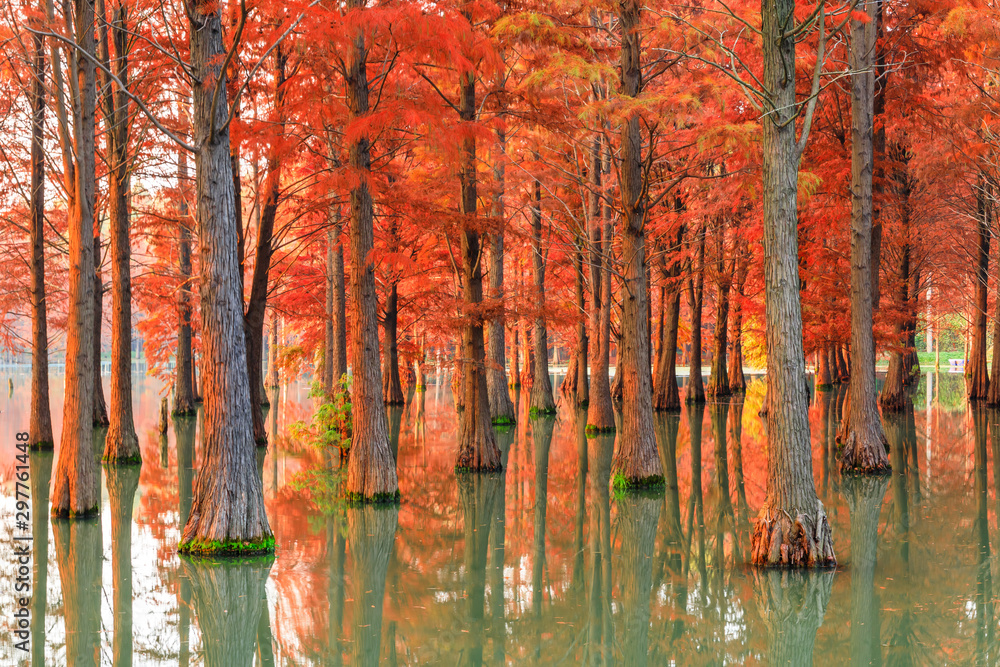
[[[45,665],[45,607],[48,602],[49,570],[49,482],[52,479],[51,451],[33,451],[31,471],[32,531],[34,537],[31,571],[31,664]],[[41,508],[39,511],[35,508]]]

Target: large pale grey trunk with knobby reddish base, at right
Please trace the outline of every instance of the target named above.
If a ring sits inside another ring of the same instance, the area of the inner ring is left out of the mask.
[[[774,109],[762,121],[768,460],[767,495],[754,526],[750,561],[815,567],[834,565],[836,557],[813,482],[802,351],[797,211],[801,154],[793,122],[798,113],[795,76],[787,69],[795,62],[795,36],[787,30],[794,12],[794,0],[763,0],[761,5],[764,87],[771,91],[768,102]]]

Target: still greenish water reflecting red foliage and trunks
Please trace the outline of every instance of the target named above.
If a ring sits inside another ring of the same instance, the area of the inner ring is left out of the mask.
[[[29,378],[13,383],[0,398],[6,545],[19,534],[14,433],[27,428]],[[874,480],[837,472],[843,391],[814,397],[814,473],[840,567],[811,574],[744,565],[764,497],[761,383],[657,417],[676,483],[656,497],[616,495],[613,438],[587,439],[585,415],[567,406],[529,420],[523,395],[517,427],[498,435],[505,472],[456,478],[447,386],[439,378],[390,414],[402,503],[388,509],[330,499],[329,457],[295,437],[314,408],[307,386],[272,391],[276,446],[259,463],[277,553],[206,563],[176,553],[200,416],[172,420],[161,439],[162,388],[138,382],[144,463],[105,470],[100,519],[50,520],[54,459],[31,455],[31,647],[14,647],[17,563],[5,547],[0,664],[1000,661],[1000,413],[969,408],[961,376],[924,376],[913,409],[885,419],[893,473]]]

